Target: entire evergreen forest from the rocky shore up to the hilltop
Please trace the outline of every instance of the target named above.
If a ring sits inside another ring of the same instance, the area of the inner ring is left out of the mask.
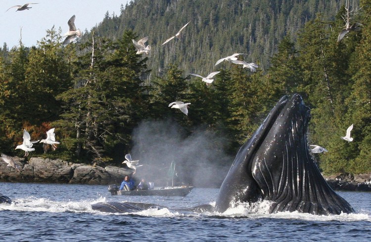
[[[35,144],[30,156],[121,164],[131,152],[158,162],[150,172],[164,176],[176,161],[186,180],[196,166],[229,167],[279,98],[299,93],[312,113],[309,145],[328,150],[313,154],[321,169],[370,172],[371,0],[341,4],[138,0],[76,43],[62,45],[51,29],[37,46],[2,48],[0,150],[23,156],[14,150],[23,129],[38,140],[55,127],[58,148],[44,154]],[[188,21],[179,40],[161,46]],[[144,36],[152,49],[136,54],[132,39]],[[263,68],[214,67],[238,52]],[[212,71],[220,73],[210,85],[189,75]],[[188,115],[174,101],[191,103]],[[354,140],[341,139],[353,123]]]

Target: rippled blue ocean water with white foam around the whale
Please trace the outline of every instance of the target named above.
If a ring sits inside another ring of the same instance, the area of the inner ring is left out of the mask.
[[[267,204],[241,204],[224,213],[149,209],[92,210],[96,202],[152,202],[168,207],[215,203],[218,189],[194,188],[186,197],[111,196],[107,186],[0,183],[17,203],[0,204],[0,242],[41,241],[371,241],[371,193],[338,192],[357,211],[318,216],[269,214]]]

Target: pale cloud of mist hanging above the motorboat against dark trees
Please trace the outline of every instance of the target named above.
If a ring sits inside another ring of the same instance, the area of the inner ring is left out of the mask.
[[[133,160],[143,164],[135,176],[171,186],[171,163],[175,162],[174,185],[220,187],[233,157],[224,151],[224,137],[199,128],[190,135],[171,120],[142,121],[133,132]]]

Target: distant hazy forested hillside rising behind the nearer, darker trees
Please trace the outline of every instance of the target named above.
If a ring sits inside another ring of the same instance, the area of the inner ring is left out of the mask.
[[[357,4],[358,0],[355,1]],[[138,39],[149,37],[147,61],[152,75],[170,63],[188,73],[204,73],[232,53],[245,53],[248,62],[270,66],[284,36],[293,41],[309,20],[322,14],[334,20],[344,0],[134,0],[120,16],[106,15],[95,29],[100,36],[117,39],[133,30]],[[181,39],[161,45],[187,22]],[[334,29],[342,27],[333,26]]]

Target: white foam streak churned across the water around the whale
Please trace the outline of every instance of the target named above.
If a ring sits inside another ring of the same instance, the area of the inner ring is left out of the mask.
[[[14,210],[14,211],[35,211],[35,212],[93,212],[97,214],[109,215],[112,213],[103,213],[92,209],[92,204],[97,202],[106,202],[105,197],[100,197],[96,200],[81,200],[81,201],[53,201],[46,198],[27,197],[15,200],[11,204],[0,203],[0,210]],[[215,206],[215,202],[212,202]],[[153,217],[177,217],[177,216],[222,216],[222,217],[249,217],[257,218],[281,218],[281,219],[300,219],[307,221],[369,221],[371,222],[371,211],[361,210],[357,213],[341,213],[339,215],[313,215],[309,213],[294,212],[278,212],[269,213],[270,202],[261,201],[255,203],[238,203],[227,209],[223,213],[218,212],[183,212],[172,211],[168,208],[152,207],[143,211],[134,212],[131,214],[138,214],[140,216]],[[119,214],[119,213],[114,213]],[[125,215],[128,213],[121,213]]]

